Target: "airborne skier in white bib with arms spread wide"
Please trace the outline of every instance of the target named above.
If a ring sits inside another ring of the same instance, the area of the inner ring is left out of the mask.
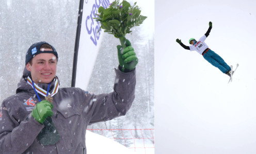
[[[176,42],[178,42],[184,49],[190,51],[197,51],[199,54],[203,55],[204,59],[211,63],[213,66],[217,67],[221,72],[226,73],[227,75],[231,75],[231,68],[230,66],[214,51],[209,49],[209,47],[204,43],[207,36],[209,36],[211,29],[212,29],[212,22],[209,22],[209,29],[207,32],[198,40],[195,38],[189,39],[189,44],[191,46],[185,46],[179,38],[177,38]]]

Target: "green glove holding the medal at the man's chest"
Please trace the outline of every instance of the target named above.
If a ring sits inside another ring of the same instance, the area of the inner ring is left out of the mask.
[[[47,117],[52,117],[53,115],[53,104],[43,100],[36,104],[32,110],[32,116],[40,123],[43,124]]]

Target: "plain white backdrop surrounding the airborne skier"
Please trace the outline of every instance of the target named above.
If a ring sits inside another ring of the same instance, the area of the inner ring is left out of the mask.
[[[256,1],[155,1],[155,153],[256,153]],[[196,51],[205,43],[233,82]]]

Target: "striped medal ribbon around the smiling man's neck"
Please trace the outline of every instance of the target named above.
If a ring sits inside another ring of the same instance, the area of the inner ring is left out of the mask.
[[[49,89],[50,89],[51,83],[49,83],[49,85],[47,87],[47,91],[45,91],[44,89],[40,88],[37,84],[35,84],[34,81],[29,78],[29,76],[27,77],[27,83],[34,88],[35,93],[37,94],[37,98],[38,98],[38,100],[40,102],[41,102],[41,99],[39,98],[38,93],[40,93],[44,97],[47,97],[48,94],[51,97],[53,97],[53,95],[55,95],[58,92],[58,90],[59,90],[59,82],[58,82],[58,79],[56,77],[54,78],[54,80],[55,80],[54,89],[53,89],[52,93],[49,94]]]

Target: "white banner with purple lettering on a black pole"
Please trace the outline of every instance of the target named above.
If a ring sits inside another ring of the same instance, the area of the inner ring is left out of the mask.
[[[99,13],[100,6],[107,8],[109,4],[109,0],[84,1],[83,10],[81,10],[83,11],[83,16],[77,55],[75,87],[87,90],[104,33],[102,29],[99,31],[101,25],[93,17],[97,17],[96,14]]]

